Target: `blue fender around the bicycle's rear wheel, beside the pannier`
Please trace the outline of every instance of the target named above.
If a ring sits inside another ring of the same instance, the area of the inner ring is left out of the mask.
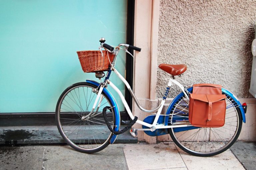
[[[193,90],[193,87],[189,87],[188,89],[188,92],[192,92]],[[245,123],[246,122],[246,119],[245,119],[245,112],[244,112],[244,109],[241,105],[241,103],[239,102],[239,100],[237,99],[237,97],[235,95],[233,95],[231,92],[229,92],[228,90],[222,88],[222,92],[224,92],[225,94],[227,94],[228,96],[230,96],[237,104],[238,104],[238,107],[241,111],[241,114],[242,114],[242,119],[243,119],[243,122]],[[183,96],[183,92],[181,92],[180,94],[178,94],[171,102],[171,104],[169,105],[167,111],[166,111],[166,115],[170,114],[171,113],[171,109],[173,108],[174,104]],[[168,125],[168,119],[169,119],[169,116],[166,116],[165,117],[165,122],[164,122],[164,125],[167,126]],[[190,127],[191,128],[191,127]],[[188,130],[190,129],[189,127],[184,127],[184,128],[175,128],[176,129],[176,132],[177,131],[183,131],[183,130]],[[192,128],[196,128],[196,127],[192,127]],[[167,132],[167,129],[165,129],[166,132]]]

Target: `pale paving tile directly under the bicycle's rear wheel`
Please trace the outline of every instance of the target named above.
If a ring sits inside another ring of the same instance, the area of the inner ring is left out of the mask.
[[[225,151],[211,157],[198,157],[186,152],[180,152],[180,154],[188,170],[244,170],[244,167],[231,151]]]

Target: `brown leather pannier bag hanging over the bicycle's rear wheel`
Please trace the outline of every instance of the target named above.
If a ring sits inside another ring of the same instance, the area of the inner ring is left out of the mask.
[[[189,122],[195,127],[217,128],[225,124],[226,95],[221,85],[194,84],[189,97]]]

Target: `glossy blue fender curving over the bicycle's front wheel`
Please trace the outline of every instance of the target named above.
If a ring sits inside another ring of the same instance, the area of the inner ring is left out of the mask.
[[[93,80],[86,80],[87,83],[99,86],[100,83],[93,81]],[[111,104],[114,106],[114,111],[115,111],[115,117],[116,117],[116,127],[115,127],[115,131],[118,131],[120,128],[120,113],[119,113],[119,109],[116,103],[116,100],[114,99],[114,97],[112,96],[112,94],[106,89],[103,89],[103,92],[107,95],[107,97],[110,99]],[[110,144],[114,143],[114,141],[116,140],[117,135],[113,134],[112,138],[110,139]]]

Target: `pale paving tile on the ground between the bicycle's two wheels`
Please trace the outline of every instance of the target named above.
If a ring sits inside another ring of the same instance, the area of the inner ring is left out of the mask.
[[[152,170],[186,167],[173,143],[169,145],[164,143],[125,144],[123,147],[129,170]]]

